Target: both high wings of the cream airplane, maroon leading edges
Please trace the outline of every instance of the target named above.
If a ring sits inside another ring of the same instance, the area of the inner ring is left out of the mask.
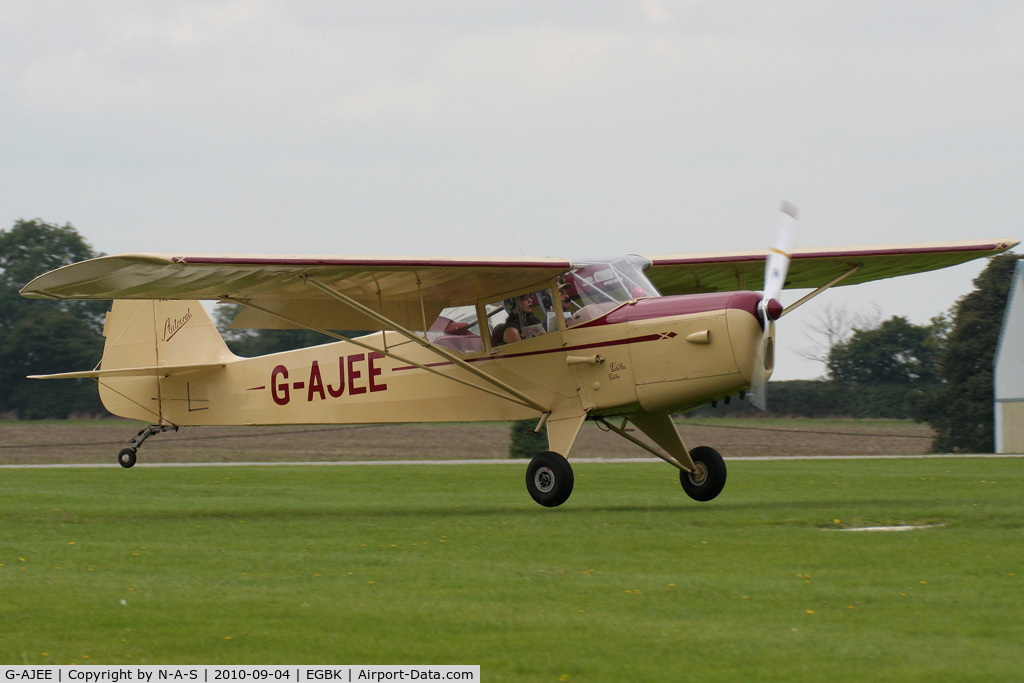
[[[785,289],[895,278],[992,256],[1018,244],[985,240],[793,252]],[[644,256],[646,274],[664,295],[763,287],[767,250]],[[382,324],[310,285],[333,291],[410,329],[429,325],[449,306],[497,301],[547,287],[572,263],[560,258],[393,258],[121,254],[40,275],[22,290],[51,299],[220,299],[250,304],[234,328],[313,327],[379,330]],[[290,318],[292,324],[285,318]]]

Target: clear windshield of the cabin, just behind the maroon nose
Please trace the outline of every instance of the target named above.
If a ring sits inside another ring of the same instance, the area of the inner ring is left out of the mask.
[[[627,256],[574,263],[558,288],[562,308],[568,313],[567,327],[592,321],[627,301],[660,296],[643,273],[646,259]]]

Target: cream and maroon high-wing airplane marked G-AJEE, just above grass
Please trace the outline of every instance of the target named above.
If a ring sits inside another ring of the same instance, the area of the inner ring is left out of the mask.
[[[152,423],[118,454],[184,426],[537,419],[548,451],[526,488],[557,507],[568,456],[597,422],[679,470],[711,501],[726,466],[672,416],[738,395],[764,408],[775,322],[836,286],[993,256],[1016,240],[792,249],[783,204],[770,250],[612,258],[120,254],[36,278],[22,295],[112,299],[88,372],[113,414]],[[783,307],[782,289],[813,289]],[[337,342],[232,354],[201,301],[241,304],[236,329],[308,329]],[[337,330],[372,331],[346,337]],[[634,436],[635,429],[651,443]]]

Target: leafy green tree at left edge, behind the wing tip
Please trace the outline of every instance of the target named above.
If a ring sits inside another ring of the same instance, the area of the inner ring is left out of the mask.
[[[0,412],[28,419],[104,413],[95,383],[59,390],[26,375],[88,370],[102,353],[106,301],[40,301],[18,290],[32,279],[98,254],[69,223],[18,220],[0,230]]]

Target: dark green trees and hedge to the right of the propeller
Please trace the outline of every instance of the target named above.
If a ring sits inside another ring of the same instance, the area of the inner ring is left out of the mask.
[[[1014,269],[1020,256],[989,259],[974,290],[928,325],[893,316],[829,338],[821,380],[770,382],[773,417],[913,419],[936,432],[936,453],[990,453],[995,447],[993,362]],[[828,328],[828,326],[825,326]],[[745,401],[693,416],[753,415]]]

